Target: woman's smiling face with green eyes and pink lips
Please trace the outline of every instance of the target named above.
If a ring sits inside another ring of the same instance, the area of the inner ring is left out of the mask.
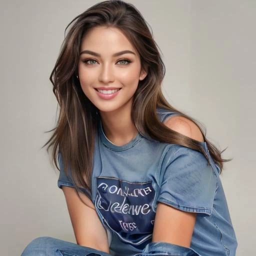
[[[99,111],[131,107],[138,82],[145,76],[137,51],[119,29],[97,26],[87,32],[81,42],[78,77]]]

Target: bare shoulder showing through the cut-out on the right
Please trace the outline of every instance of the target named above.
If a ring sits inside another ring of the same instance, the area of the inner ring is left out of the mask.
[[[203,142],[203,135],[199,127],[184,116],[173,116],[163,122],[168,128],[175,130],[187,137]]]

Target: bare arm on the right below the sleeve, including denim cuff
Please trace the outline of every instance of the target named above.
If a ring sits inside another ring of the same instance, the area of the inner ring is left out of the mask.
[[[185,212],[158,202],[152,242],[147,244],[143,253],[152,253],[155,256],[198,256],[190,247],[196,213]],[[144,254],[142,254],[144,255]]]

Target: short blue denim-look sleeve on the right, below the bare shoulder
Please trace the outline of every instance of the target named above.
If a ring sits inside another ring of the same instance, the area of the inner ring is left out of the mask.
[[[171,145],[162,160],[157,201],[183,211],[210,215],[217,189],[211,164],[197,150]]]

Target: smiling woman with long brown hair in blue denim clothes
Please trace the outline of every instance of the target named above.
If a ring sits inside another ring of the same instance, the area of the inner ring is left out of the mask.
[[[141,14],[103,1],[72,22],[50,75],[60,112],[46,144],[77,244],[38,237],[22,256],[235,255],[226,160],[164,98]]]

